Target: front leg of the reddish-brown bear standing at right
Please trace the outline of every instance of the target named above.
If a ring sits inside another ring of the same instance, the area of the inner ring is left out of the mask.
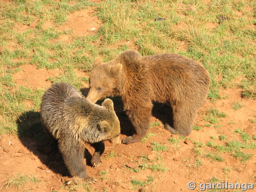
[[[133,106],[132,109],[126,111],[126,114],[132,122],[136,133],[132,136],[124,138],[122,143],[126,145],[136,143],[146,135],[150,126],[149,118],[151,116],[152,108],[153,104],[152,102],[149,102],[148,106]]]

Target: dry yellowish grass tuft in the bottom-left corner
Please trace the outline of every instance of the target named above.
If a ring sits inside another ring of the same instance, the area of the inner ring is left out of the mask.
[[[38,182],[41,182],[41,180],[37,179],[35,176],[18,174],[8,179],[2,187],[7,189],[14,186],[16,190],[20,190],[21,188],[24,188],[26,183],[29,183],[29,182],[38,183]]]

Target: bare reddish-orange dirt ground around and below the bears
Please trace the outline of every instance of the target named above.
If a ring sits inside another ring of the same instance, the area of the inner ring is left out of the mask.
[[[76,70],[77,76],[86,76],[87,74]],[[13,74],[13,79],[16,84],[25,85],[32,89],[44,89],[50,84],[45,81],[48,77],[58,75],[58,70],[46,70],[36,69],[32,65],[23,65],[21,70]],[[21,78],[21,77],[26,78]],[[38,79],[35,80],[35,76]],[[88,85],[85,84],[85,87]],[[86,89],[85,89],[86,90]],[[198,112],[195,124],[202,127],[201,130],[192,130],[188,136],[192,141],[200,141],[206,144],[212,140],[211,136],[216,136],[217,144],[224,145],[223,141],[219,140],[219,136],[225,134],[227,140],[239,139],[239,135],[234,133],[237,128],[244,130],[251,136],[256,131],[255,123],[249,121],[249,119],[255,119],[253,117],[256,114],[255,100],[242,99],[240,97],[240,89],[225,89],[221,90],[221,95],[226,96],[226,99],[220,99],[215,103],[207,101],[204,107]],[[86,94],[86,93],[85,93]],[[235,101],[243,103],[242,108],[239,110],[232,109],[232,104]],[[115,108],[120,119],[122,127],[121,139],[126,135],[131,135],[129,131],[131,128],[130,122],[127,120],[124,112],[120,107],[120,100],[115,102]],[[28,106],[33,107],[33,103],[27,103]],[[253,107],[254,106],[254,107]],[[204,121],[203,117],[205,111],[209,108],[217,108],[219,111],[224,112],[227,117],[219,118],[219,125],[222,127],[214,128],[206,127],[208,124]],[[90,164],[90,159],[93,154],[93,148],[87,145],[85,152],[84,163],[87,167],[87,172],[95,177],[98,182],[90,186],[91,191],[132,191],[134,186],[131,180],[147,180],[148,176],[153,176],[152,183],[145,187],[136,187],[140,191],[189,191],[187,185],[189,181],[194,181],[196,184],[208,183],[213,177],[219,180],[227,180],[228,182],[239,183],[255,183],[255,149],[246,149],[247,153],[252,154],[252,157],[246,161],[245,164],[241,163],[238,159],[231,156],[230,153],[219,154],[225,159],[223,162],[212,161],[210,158],[204,156],[197,156],[193,151],[193,142],[185,139],[180,140],[179,146],[171,144],[168,139],[171,137],[176,138],[177,135],[171,134],[164,129],[160,119],[156,119],[157,113],[161,113],[162,108],[156,107],[151,117],[151,123],[158,121],[160,125],[150,128],[149,132],[156,134],[156,136],[149,137],[146,142],[134,143],[132,145],[118,145],[112,147],[112,145],[106,141],[106,149],[103,154],[103,163],[99,167],[93,168]],[[163,113],[163,112],[162,112]],[[38,119],[37,119],[38,121]],[[235,124],[230,124],[234,121]],[[9,144],[11,141],[12,144]],[[164,152],[153,151],[152,143],[158,142],[164,145],[168,150]],[[184,142],[186,141],[186,142]],[[63,163],[61,154],[58,151],[57,145],[49,144],[47,139],[43,141],[36,140],[33,137],[14,137],[11,135],[3,135],[0,139],[0,187],[4,185],[4,182],[11,178],[13,175],[25,174],[35,176],[40,179],[41,182],[33,184],[28,182],[21,190],[30,191],[68,191],[69,186],[65,186],[64,182],[72,180],[69,177],[68,171]],[[202,148],[208,152],[216,152],[210,147]],[[107,154],[114,152],[116,156],[107,157]],[[155,171],[150,169],[142,170],[139,173],[132,172],[130,169],[140,169],[139,164],[142,163],[141,156],[148,156],[150,159],[146,164],[157,165],[162,164],[163,168],[167,168],[166,171]],[[105,158],[104,158],[105,157]],[[196,167],[195,160],[200,159],[202,166]],[[161,160],[162,159],[162,160]],[[128,167],[128,168],[127,168]],[[223,172],[223,168],[228,168],[228,172]],[[99,172],[107,170],[107,174],[102,176]],[[197,187],[196,189],[199,190]],[[14,187],[5,188],[1,191],[15,191]],[[77,190],[83,191],[83,188]],[[135,189],[136,190],[136,189]],[[85,190],[84,190],[85,191]]]

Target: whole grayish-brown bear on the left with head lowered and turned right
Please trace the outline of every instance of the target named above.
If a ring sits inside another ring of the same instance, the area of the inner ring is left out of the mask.
[[[68,171],[72,176],[97,182],[86,172],[84,165],[85,142],[95,148],[91,163],[100,164],[104,143],[121,143],[120,123],[113,101],[106,99],[100,105],[86,99],[73,85],[55,83],[46,90],[41,103],[41,122],[57,141]]]

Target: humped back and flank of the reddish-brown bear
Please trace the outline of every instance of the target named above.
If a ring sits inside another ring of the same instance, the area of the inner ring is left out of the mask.
[[[147,87],[151,100],[165,102],[170,98],[194,97],[194,94],[199,97],[208,92],[210,77],[207,70],[201,63],[185,56],[175,53],[141,56],[137,51],[128,50],[117,60],[124,66],[126,81],[132,79],[131,84],[138,90],[141,89],[138,87]]]

